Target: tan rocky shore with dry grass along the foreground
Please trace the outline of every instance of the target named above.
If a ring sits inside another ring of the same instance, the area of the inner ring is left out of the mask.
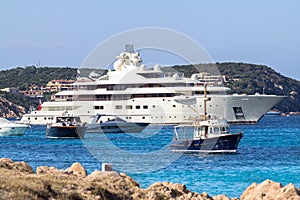
[[[40,166],[35,173],[26,162],[0,158],[0,174],[0,199],[230,199],[224,194],[212,197],[192,192],[178,183],[157,182],[143,189],[125,173],[95,170],[88,175],[80,163],[65,170]],[[265,180],[251,184],[240,198],[233,199],[300,200],[300,189]]]

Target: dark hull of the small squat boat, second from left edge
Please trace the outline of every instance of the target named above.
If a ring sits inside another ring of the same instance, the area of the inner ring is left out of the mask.
[[[47,138],[84,138],[84,127],[81,126],[47,126]]]

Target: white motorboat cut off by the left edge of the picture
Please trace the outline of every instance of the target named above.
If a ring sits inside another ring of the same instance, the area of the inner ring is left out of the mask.
[[[0,136],[24,135],[29,125],[12,122],[4,118],[0,118]]]

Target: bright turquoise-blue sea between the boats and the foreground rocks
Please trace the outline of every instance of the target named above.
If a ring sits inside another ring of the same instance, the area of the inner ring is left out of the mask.
[[[24,136],[0,137],[0,157],[24,160],[34,169],[80,162],[88,173],[111,162],[141,187],[169,181],[209,195],[237,197],[265,179],[300,187],[300,116],[266,116],[231,130],[244,132],[238,153],[203,155],[170,152],[172,126],[150,126],[140,134],[87,134],[83,141],[46,139],[45,126],[32,126]]]

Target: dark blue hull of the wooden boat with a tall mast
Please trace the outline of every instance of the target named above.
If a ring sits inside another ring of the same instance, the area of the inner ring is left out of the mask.
[[[171,151],[183,153],[235,153],[243,134],[224,134],[207,139],[173,140]]]

